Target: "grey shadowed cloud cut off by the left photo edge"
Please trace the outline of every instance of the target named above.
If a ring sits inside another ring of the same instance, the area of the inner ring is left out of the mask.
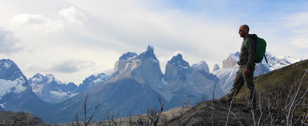
[[[16,39],[12,33],[0,28],[0,53],[11,54],[24,49],[20,45],[19,39]]]

